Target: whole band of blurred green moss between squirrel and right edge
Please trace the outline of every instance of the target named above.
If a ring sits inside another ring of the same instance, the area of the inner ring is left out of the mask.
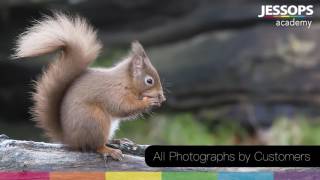
[[[234,145],[319,145],[320,122],[296,117],[279,118],[263,134],[250,136],[236,121],[221,121],[215,126],[192,113],[162,114],[123,122],[117,138],[130,138],[140,144]]]

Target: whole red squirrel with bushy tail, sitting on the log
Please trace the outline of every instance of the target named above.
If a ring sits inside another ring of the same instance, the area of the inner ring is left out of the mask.
[[[141,44],[110,68],[88,68],[102,45],[81,17],[54,13],[37,21],[16,42],[14,58],[60,51],[35,83],[33,119],[46,135],[82,151],[121,160],[105,144],[119,121],[132,119],[165,100],[160,77]]]

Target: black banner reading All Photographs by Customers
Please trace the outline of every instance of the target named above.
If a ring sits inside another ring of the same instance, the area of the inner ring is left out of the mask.
[[[320,167],[320,146],[149,146],[151,167]]]

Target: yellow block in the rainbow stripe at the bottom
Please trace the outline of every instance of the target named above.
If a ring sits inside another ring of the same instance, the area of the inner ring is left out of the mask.
[[[106,172],[106,180],[161,180],[161,172]]]

